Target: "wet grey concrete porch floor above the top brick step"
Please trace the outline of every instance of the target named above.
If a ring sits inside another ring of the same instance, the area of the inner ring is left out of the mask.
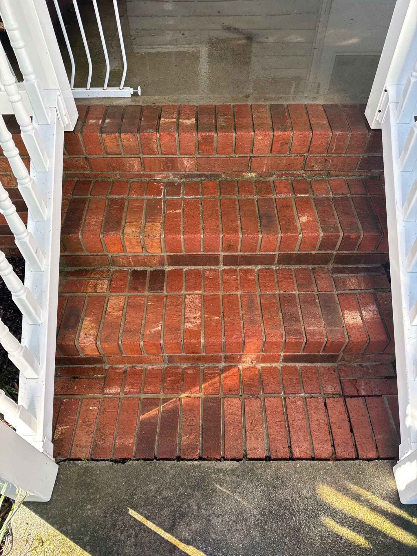
[[[122,59],[111,0],[98,3],[120,84]],[[366,103],[395,0],[119,0],[130,102]],[[53,13],[53,7],[52,13]],[[101,87],[105,60],[92,2],[80,11]],[[87,59],[75,13],[64,13],[76,60],[76,87]],[[69,58],[60,29],[61,51]],[[80,100],[85,103],[85,99]],[[100,100],[89,99],[89,103]],[[102,102],[102,101],[101,101]],[[110,99],[126,103],[126,98]]]

